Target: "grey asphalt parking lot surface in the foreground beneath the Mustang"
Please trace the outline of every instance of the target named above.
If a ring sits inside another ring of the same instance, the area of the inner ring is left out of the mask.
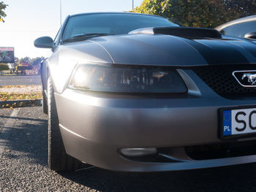
[[[41,107],[0,109],[0,191],[256,191],[256,164],[164,173],[47,167]]]

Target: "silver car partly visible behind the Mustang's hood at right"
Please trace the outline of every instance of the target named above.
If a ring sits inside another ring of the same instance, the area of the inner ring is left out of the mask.
[[[232,20],[216,29],[225,35],[256,39],[256,15]]]

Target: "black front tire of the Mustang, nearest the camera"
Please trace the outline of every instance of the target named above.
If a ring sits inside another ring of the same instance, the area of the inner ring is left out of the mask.
[[[82,163],[67,155],[59,129],[53,82],[48,78],[48,166],[53,171],[80,169]]]

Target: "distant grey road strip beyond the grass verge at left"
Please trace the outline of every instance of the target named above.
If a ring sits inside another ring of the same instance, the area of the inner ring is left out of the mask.
[[[41,77],[38,74],[28,75],[0,75],[1,85],[40,85]]]

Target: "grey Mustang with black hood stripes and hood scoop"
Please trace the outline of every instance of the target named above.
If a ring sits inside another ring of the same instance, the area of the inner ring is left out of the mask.
[[[161,172],[256,161],[256,45],[135,13],[70,15],[41,64],[48,164]]]

